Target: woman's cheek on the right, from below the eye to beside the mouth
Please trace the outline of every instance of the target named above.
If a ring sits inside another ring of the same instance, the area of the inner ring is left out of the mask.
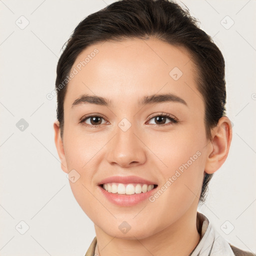
[[[163,201],[169,201],[177,207],[181,204],[189,205],[200,193],[206,148],[206,140],[200,135],[201,132],[201,129],[189,129],[175,134],[162,133],[148,146],[161,160],[157,163],[161,185],[168,187],[168,192],[164,192],[162,197]]]

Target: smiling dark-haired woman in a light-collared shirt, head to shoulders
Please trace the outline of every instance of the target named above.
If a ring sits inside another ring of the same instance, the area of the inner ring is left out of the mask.
[[[167,0],[90,14],[57,65],[55,144],[96,237],[85,255],[253,255],[197,212],[225,161],[224,59]]]

